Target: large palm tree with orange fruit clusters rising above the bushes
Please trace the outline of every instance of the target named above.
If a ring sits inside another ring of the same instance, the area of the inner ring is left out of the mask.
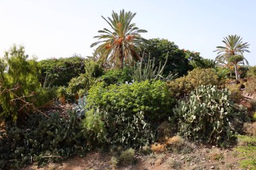
[[[106,62],[114,67],[123,68],[123,62],[131,65],[133,60],[141,60],[141,57],[137,53],[137,50],[141,50],[143,42],[146,39],[142,38],[139,33],[147,32],[146,30],[139,30],[135,24],[131,23],[131,20],[136,13],[120,11],[119,15],[113,11],[112,18],[102,18],[108,23],[111,30],[104,28],[99,30],[99,36],[97,42],[91,45],[91,47],[98,46],[94,52],[94,55],[99,55],[98,60],[102,65]]]

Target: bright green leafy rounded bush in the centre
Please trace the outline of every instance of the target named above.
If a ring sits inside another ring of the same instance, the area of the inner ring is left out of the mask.
[[[94,85],[88,91],[89,108],[113,108],[117,112],[133,115],[144,112],[146,120],[160,121],[172,111],[174,99],[170,95],[166,83],[162,81],[143,81],[132,85],[110,85],[104,83]]]

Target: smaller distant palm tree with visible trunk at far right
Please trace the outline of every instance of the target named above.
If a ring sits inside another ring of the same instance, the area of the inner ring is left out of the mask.
[[[217,49],[214,50],[214,52],[217,52],[218,54],[215,59],[218,64],[224,64],[225,62],[228,62],[228,65],[234,65],[236,79],[239,79],[239,73],[237,69],[238,63],[243,62],[243,64],[245,64],[246,62],[248,65],[248,61],[243,56],[243,53],[250,52],[247,50],[249,48],[249,44],[247,42],[243,42],[242,39],[243,38],[236,35],[225,37],[222,42],[226,46],[217,46]]]

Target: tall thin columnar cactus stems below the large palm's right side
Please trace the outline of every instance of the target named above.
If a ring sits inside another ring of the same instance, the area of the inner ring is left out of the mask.
[[[161,65],[161,62],[159,63],[159,67],[156,67],[155,65],[155,58],[150,59],[150,55],[148,58],[148,62],[143,67],[143,57],[141,59],[141,62],[137,62],[136,65],[134,65],[134,73],[133,73],[133,79],[134,81],[141,82],[146,80],[171,80],[174,79],[174,77],[177,75],[172,75],[172,73],[169,73],[167,77],[163,77],[162,74],[164,72],[164,67],[166,66],[166,62],[168,60],[168,53],[166,57],[166,61],[164,62],[164,65]]]

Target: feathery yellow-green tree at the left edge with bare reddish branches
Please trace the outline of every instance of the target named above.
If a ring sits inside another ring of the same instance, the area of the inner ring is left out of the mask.
[[[52,91],[42,89],[38,81],[38,63],[28,60],[23,46],[14,45],[5,52],[0,71],[0,116],[13,120],[20,116],[22,119],[22,115],[31,109],[27,102],[38,106],[52,99]]]

